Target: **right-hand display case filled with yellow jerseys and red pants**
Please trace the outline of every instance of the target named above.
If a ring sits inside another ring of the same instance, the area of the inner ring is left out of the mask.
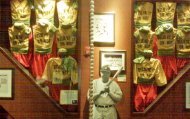
[[[132,42],[135,51],[132,59],[134,114],[147,113],[188,71],[189,43],[185,41],[188,39],[188,35],[185,34],[188,34],[190,23],[189,9],[187,0],[134,1],[132,23]],[[151,62],[157,62],[157,65],[152,65]],[[157,74],[154,74],[154,70],[158,68],[159,72],[156,71]],[[142,90],[146,93],[140,94]]]

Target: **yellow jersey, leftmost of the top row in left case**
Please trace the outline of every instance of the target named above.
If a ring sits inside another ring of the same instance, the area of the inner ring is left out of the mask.
[[[31,9],[28,0],[11,0],[12,23],[23,22],[30,25]]]

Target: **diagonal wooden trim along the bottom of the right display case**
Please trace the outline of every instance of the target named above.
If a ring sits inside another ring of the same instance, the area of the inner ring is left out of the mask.
[[[161,98],[166,94],[173,85],[190,69],[190,63],[187,64],[178,75],[166,86],[166,88],[157,96],[157,98],[143,111],[143,112],[133,112],[133,114],[146,114]]]

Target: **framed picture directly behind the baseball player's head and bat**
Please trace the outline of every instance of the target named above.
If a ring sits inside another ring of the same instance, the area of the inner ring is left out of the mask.
[[[109,65],[111,69],[111,76],[115,74],[117,70],[123,67],[121,74],[126,72],[126,51],[115,50],[115,51],[100,51],[100,65],[99,71],[102,66]]]

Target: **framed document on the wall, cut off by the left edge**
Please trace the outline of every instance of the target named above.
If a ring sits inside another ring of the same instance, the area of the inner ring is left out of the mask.
[[[0,69],[0,99],[13,98],[13,69]]]

